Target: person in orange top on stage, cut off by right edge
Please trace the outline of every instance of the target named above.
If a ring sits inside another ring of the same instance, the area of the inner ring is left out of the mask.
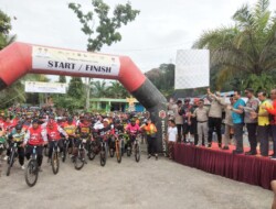
[[[273,154],[270,155],[270,157],[272,160],[276,160],[276,89],[273,89],[270,91],[270,99],[273,100],[273,107],[266,107],[266,111],[270,114],[270,130],[273,135]],[[276,186],[276,182],[274,184]]]

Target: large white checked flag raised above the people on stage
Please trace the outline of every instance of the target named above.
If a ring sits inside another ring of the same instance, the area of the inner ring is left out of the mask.
[[[176,61],[174,89],[210,86],[208,50],[179,50]]]

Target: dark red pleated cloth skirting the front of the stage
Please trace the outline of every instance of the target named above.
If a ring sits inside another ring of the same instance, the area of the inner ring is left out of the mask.
[[[234,180],[270,189],[276,179],[276,161],[268,157],[233,155],[230,151],[174,145],[174,161]]]

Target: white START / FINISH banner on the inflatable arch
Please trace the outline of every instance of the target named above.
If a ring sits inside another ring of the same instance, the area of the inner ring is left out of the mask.
[[[32,68],[118,76],[120,62],[117,56],[113,55],[33,46]]]

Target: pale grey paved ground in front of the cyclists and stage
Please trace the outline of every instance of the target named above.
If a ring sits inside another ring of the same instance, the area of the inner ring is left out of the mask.
[[[273,194],[261,187],[237,183],[185,167],[167,158],[140,163],[124,156],[121,164],[98,156],[82,170],[71,162],[53,175],[44,158],[38,184],[30,188],[24,172],[15,164],[11,175],[0,177],[0,208],[11,209],[267,209]]]

